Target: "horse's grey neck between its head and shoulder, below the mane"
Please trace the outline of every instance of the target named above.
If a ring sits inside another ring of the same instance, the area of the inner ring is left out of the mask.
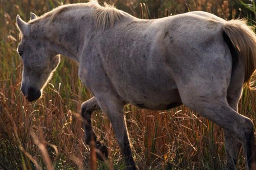
[[[45,29],[46,40],[50,41],[54,52],[79,62],[86,36],[90,35],[92,26],[89,16],[75,15],[66,12],[54,18],[48,25],[42,23],[41,27]]]

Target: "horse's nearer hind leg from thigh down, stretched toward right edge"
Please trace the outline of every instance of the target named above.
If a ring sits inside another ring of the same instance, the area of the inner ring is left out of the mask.
[[[206,91],[202,88],[201,91],[198,91],[198,88],[194,88],[195,86],[192,86],[179,90],[183,103],[192,110],[197,111],[197,113],[204,118],[211,120],[213,123],[223,128],[226,133],[232,132],[232,135],[243,144],[248,169],[255,170],[256,157],[254,125],[252,120],[240,115],[230,107],[229,103],[227,103],[226,94],[224,93],[225,90],[221,89],[221,86],[211,86],[208,87]],[[235,141],[237,144],[238,141]],[[229,139],[229,142],[231,142],[231,139]],[[234,148],[234,145],[228,144],[228,147]],[[231,150],[231,156],[236,156],[236,154],[236,152]],[[235,166],[232,168],[234,169]]]

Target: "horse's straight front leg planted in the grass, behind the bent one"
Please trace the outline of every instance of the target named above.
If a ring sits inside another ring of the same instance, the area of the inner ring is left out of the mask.
[[[126,170],[137,170],[136,163],[132,157],[132,150],[129,143],[125,116],[123,114],[124,103],[117,95],[111,93],[101,93],[96,95],[101,110],[106,114],[112,124],[115,137],[121,149],[125,161]]]

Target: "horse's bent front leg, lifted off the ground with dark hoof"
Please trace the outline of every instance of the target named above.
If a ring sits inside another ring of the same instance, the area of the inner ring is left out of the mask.
[[[100,150],[100,152],[103,154],[105,158],[108,158],[108,149],[104,144],[100,142],[99,139],[97,139],[94,131],[92,130],[92,125],[91,125],[91,114],[94,110],[99,110],[99,109],[100,107],[97,104],[97,101],[95,98],[91,98],[82,104],[81,115],[85,119],[83,122],[85,127],[85,142],[86,144],[90,144],[91,141],[94,141],[96,148]],[[99,159],[100,161],[104,160],[104,158],[102,158],[99,153],[97,153],[96,155],[97,155],[97,159]]]

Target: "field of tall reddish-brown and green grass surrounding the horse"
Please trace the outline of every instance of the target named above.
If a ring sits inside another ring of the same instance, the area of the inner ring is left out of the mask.
[[[16,52],[19,42],[16,15],[28,21],[30,12],[41,15],[60,4],[75,2],[85,1],[0,0],[0,169],[89,169],[93,163],[90,149],[83,142],[79,116],[82,102],[92,95],[79,80],[75,62],[62,57],[40,100],[29,103],[20,91],[22,63]],[[248,17],[249,24],[255,23],[255,5],[246,5],[250,1],[107,2],[143,18],[202,10],[226,20]],[[139,169],[225,169],[222,130],[185,106],[150,111],[127,105],[124,111]],[[239,113],[256,125],[255,91],[244,89]],[[111,153],[107,162],[97,162],[97,169],[124,169],[108,119],[101,111],[95,112],[92,119],[95,132]],[[238,169],[245,169],[243,151]]]

